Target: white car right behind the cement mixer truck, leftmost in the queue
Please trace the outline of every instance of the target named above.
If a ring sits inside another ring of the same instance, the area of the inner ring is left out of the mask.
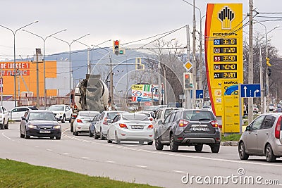
[[[79,111],[73,123],[73,135],[78,136],[80,132],[89,132],[89,126],[98,113],[97,111]]]

